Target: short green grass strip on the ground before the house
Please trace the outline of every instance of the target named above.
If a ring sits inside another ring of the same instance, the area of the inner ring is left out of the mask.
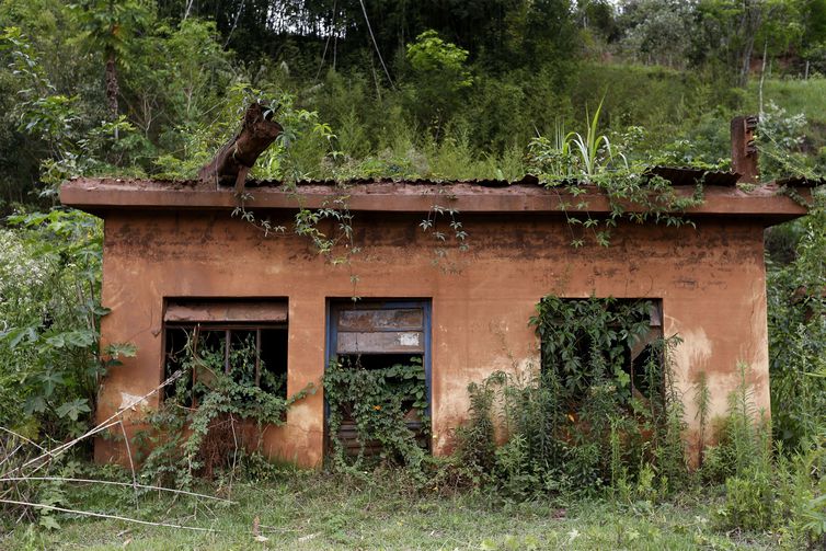
[[[365,483],[321,473],[284,471],[261,482],[215,483],[191,497],[140,496],[130,489],[72,484],[70,507],[157,523],[210,528],[140,526],[60,514],[58,530],[19,526],[0,536],[2,549],[772,549],[771,535],[714,528],[713,492],[667,503],[558,498],[507,503],[461,492],[416,494],[391,480]],[[217,489],[217,490],[216,490]],[[257,540],[253,523],[260,521]]]

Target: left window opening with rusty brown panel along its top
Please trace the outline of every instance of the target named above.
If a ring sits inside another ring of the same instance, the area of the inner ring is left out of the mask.
[[[204,361],[186,361],[198,357]],[[220,369],[236,382],[287,397],[287,303],[284,300],[169,300],[164,312],[165,377],[184,370],[185,405]],[[200,384],[198,384],[200,383]],[[180,387],[180,386],[177,386]],[[165,388],[167,395],[176,386]]]

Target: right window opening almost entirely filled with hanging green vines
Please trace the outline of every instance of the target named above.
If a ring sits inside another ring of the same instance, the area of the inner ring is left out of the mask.
[[[532,322],[541,338],[542,376],[576,411],[595,388],[622,402],[663,391],[662,302],[651,299],[549,296]]]

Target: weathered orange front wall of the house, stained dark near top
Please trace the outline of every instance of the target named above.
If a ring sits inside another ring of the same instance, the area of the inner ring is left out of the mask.
[[[623,225],[610,248],[570,245],[571,229],[542,215],[462,216],[471,249],[449,250],[434,266],[437,243],[417,227],[422,216],[356,213],[364,250],[352,268],[333,266],[305,239],[265,238],[226,211],[112,211],[106,216],[104,342],[131,342],[136,358],[111,370],[100,398],[105,418],[162,378],[164,297],[285,297],[289,301],[288,393],[324,369],[325,301],[431,298],[433,449],[451,449],[452,429],[468,409],[467,386],[496,369],[538,364],[528,318],[548,294],[659,298],[664,331],[679,334],[676,375],[686,402],[689,441],[697,418],[693,382],[704,371],[712,415],[725,412],[738,380],[753,368],[757,405],[769,407],[762,227],[757,221],[697,219],[690,227]],[[276,223],[277,220],[274,220]],[[288,225],[288,220],[285,219]],[[157,403],[157,398],[147,405]],[[139,412],[131,415],[139,418]],[[303,466],[323,454],[323,395],[296,404],[287,424],[266,432],[266,451]],[[99,461],[118,459],[101,440]],[[696,450],[695,450],[696,452]]]

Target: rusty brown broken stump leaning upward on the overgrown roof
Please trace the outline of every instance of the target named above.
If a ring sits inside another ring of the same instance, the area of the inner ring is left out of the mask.
[[[213,161],[198,171],[204,181],[216,184],[233,185],[236,193],[244,191],[246,173],[257,158],[284,131],[282,125],[273,120],[277,107],[271,108],[261,103],[253,103],[244,113],[241,131],[218,150]]]

